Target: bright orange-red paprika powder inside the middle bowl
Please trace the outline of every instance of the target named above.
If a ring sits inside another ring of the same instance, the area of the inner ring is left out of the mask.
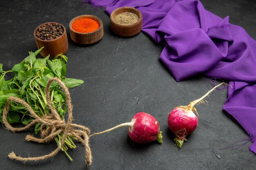
[[[99,28],[99,23],[90,18],[82,18],[76,20],[72,24],[72,29],[79,33],[90,33],[92,31],[96,31]]]

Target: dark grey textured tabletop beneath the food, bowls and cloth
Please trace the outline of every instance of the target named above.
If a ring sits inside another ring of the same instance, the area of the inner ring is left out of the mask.
[[[204,7],[232,24],[242,26],[256,39],[255,0],[202,0]],[[163,131],[164,143],[133,143],[127,128],[94,136],[90,139],[93,163],[91,170],[254,170],[256,156],[248,144],[231,150],[234,142],[248,138],[243,128],[222,110],[227,90],[213,91],[208,106],[196,106],[198,128],[187,137],[181,149],[174,146],[168,130],[168,113],[176,106],[187,105],[204,95],[212,84],[205,77],[176,82],[159,60],[163,46],[144,33],[120,38],[110,30],[110,21],[103,8],[93,9],[81,0],[1,0],[0,63],[10,70],[21,62],[28,51],[36,51],[33,31],[44,22],[59,22],[68,33],[67,77],[83,79],[83,85],[70,89],[74,123],[99,132],[130,121],[138,112],[153,115]],[[96,44],[82,46],[70,39],[68,24],[78,15],[96,15],[103,21],[104,36]],[[39,55],[40,56],[40,55]],[[218,82],[217,82],[218,83]],[[0,127],[1,170],[82,170],[86,169],[82,145],[69,150],[74,161],[59,152],[53,159],[22,163],[7,157],[14,151],[23,157],[45,155],[56,148],[54,142],[37,144],[25,141],[33,130],[13,133]],[[238,143],[243,144],[243,142]],[[213,150],[217,150],[215,155]]]

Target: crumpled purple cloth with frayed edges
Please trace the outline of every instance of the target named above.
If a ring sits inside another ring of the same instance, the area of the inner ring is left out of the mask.
[[[199,0],[84,1],[106,7],[108,14],[124,6],[141,11],[142,31],[165,45],[160,59],[177,81],[198,74],[229,81],[223,109],[248,132],[256,154],[256,41],[243,28],[205,10]]]

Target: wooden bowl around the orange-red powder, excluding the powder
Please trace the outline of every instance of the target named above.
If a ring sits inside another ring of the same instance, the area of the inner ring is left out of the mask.
[[[79,33],[77,31],[75,31],[74,29],[72,29],[72,24],[79,19],[82,18],[90,18],[93,19],[97,22],[99,22],[99,28],[96,31],[90,32],[90,33]],[[77,16],[76,18],[73,18],[70,21],[70,37],[71,39],[79,44],[93,44],[95,42],[98,42],[99,40],[101,40],[101,38],[103,37],[103,23],[101,21],[101,19],[97,16],[94,15],[80,15]]]

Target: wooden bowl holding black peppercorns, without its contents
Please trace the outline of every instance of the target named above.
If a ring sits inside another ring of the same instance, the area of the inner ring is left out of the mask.
[[[36,31],[38,31],[38,28],[40,26],[53,23],[59,24],[57,22],[46,22],[36,27],[34,31],[34,38],[36,40],[37,48],[40,49],[42,46],[44,46],[43,50],[40,52],[40,55],[42,55],[43,57],[50,55],[49,59],[53,59],[56,55],[60,53],[63,53],[65,55],[68,49],[67,32],[62,24],[61,26],[63,28],[63,34],[60,37],[54,40],[41,40],[40,38],[36,37]]]

